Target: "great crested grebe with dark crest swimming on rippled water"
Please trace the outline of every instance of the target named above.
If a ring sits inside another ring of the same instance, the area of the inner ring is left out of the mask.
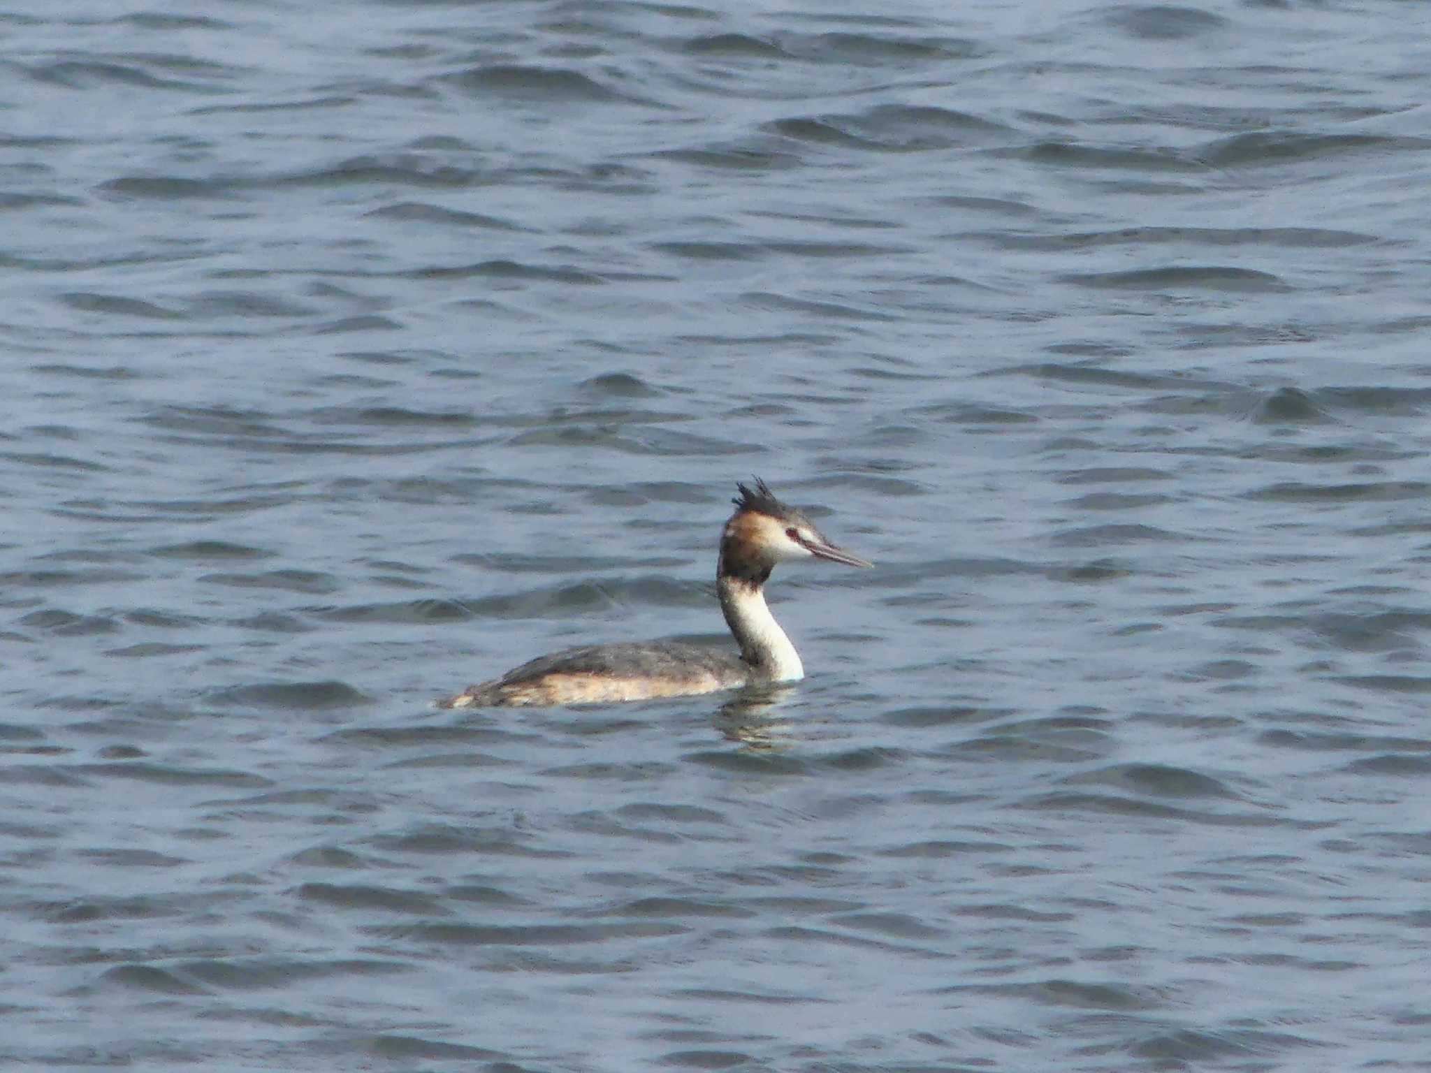
[[[472,685],[438,707],[644,701],[804,678],[800,654],[766,607],[761,587],[770,571],[796,559],[873,564],[830,544],[800,511],[776,499],[764,481],[757,478],[754,491],[736,486],[740,495],[731,501],[736,514],[720,538],[716,589],[740,655],[673,641],[567,648]]]

